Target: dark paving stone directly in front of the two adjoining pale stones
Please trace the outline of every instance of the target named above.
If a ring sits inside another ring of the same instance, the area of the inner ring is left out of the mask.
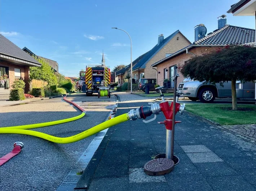
[[[194,165],[205,176],[237,175],[237,172],[225,162],[194,163]]]

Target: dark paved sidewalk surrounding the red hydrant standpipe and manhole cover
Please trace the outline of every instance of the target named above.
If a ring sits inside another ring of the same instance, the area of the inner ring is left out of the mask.
[[[148,105],[126,102],[118,104],[116,116]],[[160,114],[148,124],[137,120],[111,127],[76,188],[89,191],[256,190],[256,145],[188,115],[176,116],[176,120],[182,121],[176,125],[174,146],[180,163],[163,176],[146,175],[144,164],[156,154],[165,153],[165,127],[157,124],[163,120]]]

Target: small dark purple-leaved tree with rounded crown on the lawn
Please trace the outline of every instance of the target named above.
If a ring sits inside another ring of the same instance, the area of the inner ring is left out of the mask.
[[[181,73],[198,81],[220,83],[231,81],[232,109],[237,110],[237,80],[246,82],[256,79],[256,47],[232,45],[216,52],[190,59]]]

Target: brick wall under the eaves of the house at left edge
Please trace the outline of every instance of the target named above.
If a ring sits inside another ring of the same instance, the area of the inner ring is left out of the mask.
[[[16,64],[12,64],[12,63],[6,62],[6,61],[0,61],[0,66],[9,67],[10,89],[12,89],[11,85],[13,84],[13,81],[15,80],[14,68],[20,69],[21,70],[21,78],[24,79],[24,81],[26,83],[25,92],[26,93],[28,92],[28,90],[29,90],[29,84],[28,84],[29,66],[16,65]]]

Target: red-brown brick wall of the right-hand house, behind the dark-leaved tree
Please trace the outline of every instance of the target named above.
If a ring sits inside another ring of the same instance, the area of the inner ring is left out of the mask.
[[[193,49],[190,49],[189,52],[194,53],[196,56],[201,56],[203,54],[207,54],[210,53],[212,51],[216,51],[219,47],[195,47]],[[191,59],[193,57],[193,55],[191,54],[186,54],[186,51],[184,53],[181,53],[178,56],[175,56],[165,62],[163,62],[162,64],[159,64],[157,66],[157,70],[160,71],[160,74],[158,74],[158,82],[164,80],[164,69],[167,68],[168,69],[168,73],[167,73],[167,78],[170,78],[169,76],[169,67],[170,66],[175,66],[177,65],[177,67],[182,67],[184,65],[184,63]],[[184,76],[182,76],[182,74],[180,72],[178,72],[178,74],[180,75],[180,77],[178,77],[177,79],[177,84],[181,83],[184,80]],[[161,82],[161,84],[159,85],[163,85],[163,82]]]

